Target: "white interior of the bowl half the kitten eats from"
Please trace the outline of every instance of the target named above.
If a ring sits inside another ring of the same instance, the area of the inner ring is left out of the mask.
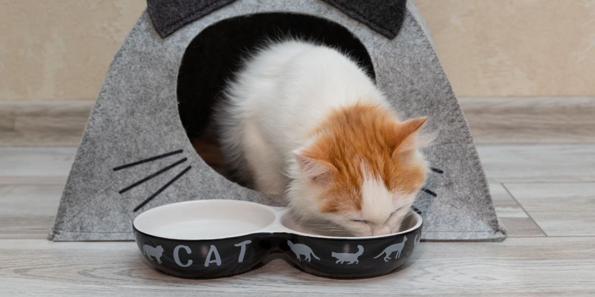
[[[419,214],[412,211],[411,215],[409,215],[408,217],[405,218],[405,220],[403,220],[403,223],[401,224],[400,231],[397,233],[392,233],[389,235],[378,235],[378,236],[351,237],[347,231],[340,230],[339,226],[328,225],[328,226],[331,226],[330,229],[333,229],[333,230],[325,231],[324,230],[325,225],[327,225],[328,223],[321,224],[321,222],[298,222],[296,220],[295,216],[293,216],[293,214],[290,212],[285,213],[283,215],[283,217],[281,217],[281,225],[295,231],[296,233],[305,233],[305,234],[314,235],[314,236],[338,237],[338,238],[350,238],[350,239],[378,238],[378,237],[383,237],[383,236],[392,236],[392,235],[399,234],[399,233],[409,232],[412,229],[418,228],[418,226],[421,225],[421,221],[422,221],[421,216],[419,216]],[[337,230],[337,229],[339,229],[339,230]]]

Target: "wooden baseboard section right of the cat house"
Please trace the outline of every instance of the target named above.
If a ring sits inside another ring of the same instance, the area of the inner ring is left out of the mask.
[[[595,143],[595,97],[459,99],[476,143]]]

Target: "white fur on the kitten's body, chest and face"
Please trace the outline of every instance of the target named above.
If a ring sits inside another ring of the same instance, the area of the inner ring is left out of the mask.
[[[228,103],[218,121],[228,164],[251,174],[259,191],[286,191],[298,214],[325,219],[330,215],[320,213],[316,199],[322,189],[300,172],[293,153],[312,141],[312,131],[333,109],[363,100],[389,106],[355,62],[335,49],[299,40],[271,43],[260,50],[225,94]],[[391,194],[375,183],[364,185],[364,197],[368,197],[364,213],[380,220],[394,206],[387,202],[392,201]],[[386,196],[386,201],[370,198],[378,194]],[[344,217],[333,220],[346,225]]]

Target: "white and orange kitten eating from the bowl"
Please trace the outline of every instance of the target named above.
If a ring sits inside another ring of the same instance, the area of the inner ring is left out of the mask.
[[[356,62],[300,40],[249,58],[218,111],[227,164],[255,188],[285,194],[302,219],[355,236],[397,232],[424,185],[419,129],[399,121]]]

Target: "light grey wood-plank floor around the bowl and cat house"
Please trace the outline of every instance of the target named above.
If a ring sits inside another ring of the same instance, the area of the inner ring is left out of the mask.
[[[310,276],[279,256],[236,277],[178,279],[134,242],[50,242],[76,147],[0,147],[0,296],[595,296],[595,127],[486,132],[479,118],[469,122],[509,238],[422,242],[402,269],[367,280]]]

